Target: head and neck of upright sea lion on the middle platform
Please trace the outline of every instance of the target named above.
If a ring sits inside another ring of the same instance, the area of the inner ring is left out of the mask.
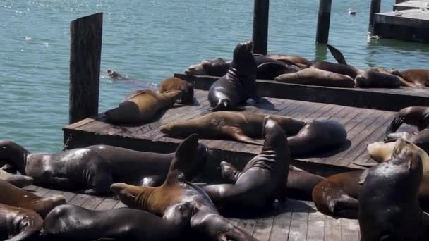
[[[256,63],[253,57],[253,42],[241,42],[234,49],[232,67],[244,73],[256,75]]]

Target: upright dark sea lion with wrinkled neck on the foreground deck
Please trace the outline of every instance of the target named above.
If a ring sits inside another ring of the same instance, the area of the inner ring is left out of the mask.
[[[275,199],[279,202],[286,199],[284,184],[291,163],[287,138],[280,125],[269,116],[264,118],[263,128],[265,142],[262,151],[246,164],[243,171],[234,175],[234,184],[203,187],[216,206],[262,209],[272,207]]]

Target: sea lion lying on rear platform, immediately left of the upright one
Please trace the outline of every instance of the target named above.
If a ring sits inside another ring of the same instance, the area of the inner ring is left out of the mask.
[[[185,73],[186,75],[213,75],[223,76],[229,68],[229,63],[226,63],[223,58],[214,58],[203,60],[201,63],[189,66]]]

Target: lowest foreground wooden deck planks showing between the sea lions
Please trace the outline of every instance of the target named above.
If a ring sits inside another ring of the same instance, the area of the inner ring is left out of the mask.
[[[116,209],[125,206],[117,197],[95,197],[73,192],[49,190],[31,185],[24,190],[42,197],[62,194],[68,204],[91,210]],[[360,240],[357,220],[332,218],[315,209],[313,202],[287,199],[277,205],[269,214],[260,218],[228,218],[231,223],[246,230],[260,241],[358,241]]]

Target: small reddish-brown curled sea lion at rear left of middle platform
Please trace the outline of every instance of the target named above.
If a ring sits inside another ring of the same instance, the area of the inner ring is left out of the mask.
[[[162,80],[161,85],[159,85],[159,92],[161,93],[174,90],[180,91],[180,99],[177,102],[182,104],[193,103],[193,85],[190,82],[172,77]]]

